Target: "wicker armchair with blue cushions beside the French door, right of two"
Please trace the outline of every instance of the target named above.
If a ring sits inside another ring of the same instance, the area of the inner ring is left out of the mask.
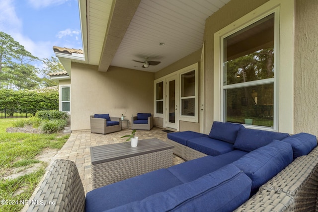
[[[131,120],[133,130],[151,130],[154,127],[154,117],[150,113],[137,113]]]

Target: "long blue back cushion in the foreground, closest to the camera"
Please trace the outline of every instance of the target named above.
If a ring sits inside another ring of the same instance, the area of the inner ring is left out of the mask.
[[[110,212],[232,212],[250,194],[250,179],[232,164]]]

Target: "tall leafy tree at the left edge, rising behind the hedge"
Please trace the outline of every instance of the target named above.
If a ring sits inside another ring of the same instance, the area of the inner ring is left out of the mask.
[[[0,89],[35,89],[41,81],[31,62],[39,60],[10,35],[0,32]]]

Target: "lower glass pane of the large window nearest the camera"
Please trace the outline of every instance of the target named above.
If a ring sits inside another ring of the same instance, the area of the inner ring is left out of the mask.
[[[226,122],[273,127],[273,92],[273,83],[227,89]],[[245,119],[252,122],[246,123]]]

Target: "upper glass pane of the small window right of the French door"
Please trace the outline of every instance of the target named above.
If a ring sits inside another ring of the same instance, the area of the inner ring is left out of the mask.
[[[181,97],[195,95],[195,71],[181,74]]]

